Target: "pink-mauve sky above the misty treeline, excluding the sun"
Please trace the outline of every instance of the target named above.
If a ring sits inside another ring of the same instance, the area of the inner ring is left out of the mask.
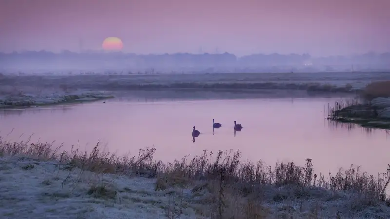
[[[0,51],[390,51],[390,0],[1,0]]]

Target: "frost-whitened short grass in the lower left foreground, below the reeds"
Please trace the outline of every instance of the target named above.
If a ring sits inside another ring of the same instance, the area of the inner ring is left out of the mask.
[[[154,180],[67,169],[55,161],[0,158],[2,219],[166,218],[167,191]],[[183,210],[182,218],[195,211]]]

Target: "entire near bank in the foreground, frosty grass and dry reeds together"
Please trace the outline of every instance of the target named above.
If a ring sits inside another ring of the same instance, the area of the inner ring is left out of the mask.
[[[389,218],[389,169],[377,178],[351,166],[314,174],[207,151],[164,164],[138,157],[0,139],[0,218]],[[389,205],[390,206],[390,205]]]

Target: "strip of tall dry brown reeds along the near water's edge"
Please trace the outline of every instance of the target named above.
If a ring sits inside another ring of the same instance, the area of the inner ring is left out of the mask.
[[[276,163],[275,166],[266,166],[262,161],[256,163],[240,160],[239,151],[221,150],[213,158],[213,152],[204,150],[200,156],[195,156],[188,162],[188,158],[174,160],[171,163],[156,161],[153,156],[155,148],[140,149],[138,157],[117,156],[109,152],[100,153],[99,141],[91,153],[80,153],[78,149],[59,153],[60,147],[53,148],[50,143],[8,142],[0,137],[0,155],[30,156],[44,160],[58,160],[62,164],[72,164],[87,171],[98,171],[112,174],[137,174],[150,178],[162,176],[180,176],[180,180],[169,182],[172,184],[190,183],[196,180],[215,180],[223,174],[225,184],[256,184],[296,185],[299,187],[318,187],[334,191],[353,190],[365,194],[373,199],[384,200],[387,197],[385,188],[390,178],[389,168],[377,178],[362,173],[359,167],[351,165],[347,170],[340,169],[335,175],[314,174],[312,159],[306,159],[304,167],[294,162]],[[171,178],[175,180],[175,177]],[[180,182],[179,182],[180,181]]]

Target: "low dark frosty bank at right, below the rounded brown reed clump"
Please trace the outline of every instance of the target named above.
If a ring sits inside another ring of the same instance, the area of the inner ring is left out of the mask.
[[[367,103],[336,103],[328,120],[354,123],[366,128],[390,130],[390,98],[377,97]]]

